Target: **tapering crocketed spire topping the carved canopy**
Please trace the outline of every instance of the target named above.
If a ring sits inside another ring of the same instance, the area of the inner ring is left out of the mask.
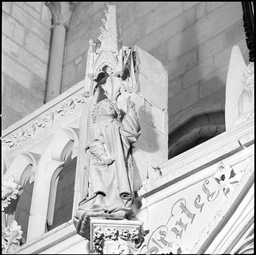
[[[101,42],[101,50],[112,50],[117,53],[123,46],[119,10],[116,5],[110,5],[105,2],[108,10],[104,11],[106,19],[102,18],[101,22],[104,24],[104,28],[100,28],[100,36],[98,37]]]

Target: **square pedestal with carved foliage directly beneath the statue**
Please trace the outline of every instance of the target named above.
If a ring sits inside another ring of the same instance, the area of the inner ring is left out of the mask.
[[[144,231],[141,221],[90,219],[91,250],[100,254],[137,254]]]

